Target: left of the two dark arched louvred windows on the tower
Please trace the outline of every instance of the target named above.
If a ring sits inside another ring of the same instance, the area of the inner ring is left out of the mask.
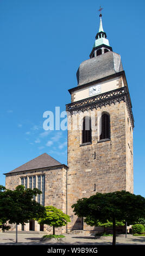
[[[91,118],[83,118],[82,143],[92,142]]]

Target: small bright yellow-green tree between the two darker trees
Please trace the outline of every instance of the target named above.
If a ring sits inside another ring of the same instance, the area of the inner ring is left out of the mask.
[[[37,219],[39,224],[47,224],[53,227],[53,235],[55,235],[55,227],[62,227],[70,222],[70,217],[60,209],[54,206],[45,206],[46,217]]]

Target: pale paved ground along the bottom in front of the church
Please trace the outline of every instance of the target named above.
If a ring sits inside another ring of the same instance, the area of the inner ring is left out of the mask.
[[[40,234],[18,234],[17,245],[111,245],[112,237],[65,234],[61,241],[41,241]],[[16,245],[14,233],[0,233],[0,245]],[[145,236],[116,237],[116,245],[145,245]]]

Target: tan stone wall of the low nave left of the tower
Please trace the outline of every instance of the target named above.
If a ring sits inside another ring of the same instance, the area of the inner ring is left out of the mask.
[[[11,173],[6,175],[5,187],[14,190],[16,186],[21,185],[21,178],[27,176],[27,184],[29,187],[29,177],[45,175],[45,206],[53,205],[62,210],[66,214],[66,168],[51,167],[46,169],[31,170],[20,173]],[[37,201],[37,197],[36,197]],[[11,229],[15,230],[15,225],[11,225]],[[22,225],[18,225],[18,230],[22,230]],[[29,223],[24,225],[24,230],[29,230]],[[35,231],[40,231],[40,225],[35,221]],[[44,225],[44,231],[52,234],[52,227]],[[66,231],[66,227],[56,228],[56,234]]]

